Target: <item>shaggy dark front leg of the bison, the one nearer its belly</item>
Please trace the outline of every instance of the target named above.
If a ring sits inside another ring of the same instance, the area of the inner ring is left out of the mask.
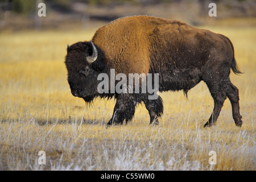
[[[149,100],[148,96],[144,97],[143,102],[148,110],[150,115],[150,124],[158,125],[158,117],[161,117],[163,114],[163,100],[158,96],[155,100]]]

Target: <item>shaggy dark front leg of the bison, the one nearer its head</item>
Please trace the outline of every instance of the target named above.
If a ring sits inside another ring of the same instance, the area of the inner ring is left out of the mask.
[[[107,125],[122,125],[125,119],[126,123],[130,121],[134,116],[136,104],[137,101],[133,94],[119,94],[117,96],[117,102],[115,103],[112,118]]]

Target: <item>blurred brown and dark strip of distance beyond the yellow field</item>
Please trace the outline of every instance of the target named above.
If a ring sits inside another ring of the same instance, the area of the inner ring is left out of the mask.
[[[46,17],[38,16],[40,2],[46,4]],[[208,15],[212,2],[216,17]],[[83,30],[131,15],[177,19],[193,26],[256,26],[255,10],[254,0],[0,0],[0,31]]]

